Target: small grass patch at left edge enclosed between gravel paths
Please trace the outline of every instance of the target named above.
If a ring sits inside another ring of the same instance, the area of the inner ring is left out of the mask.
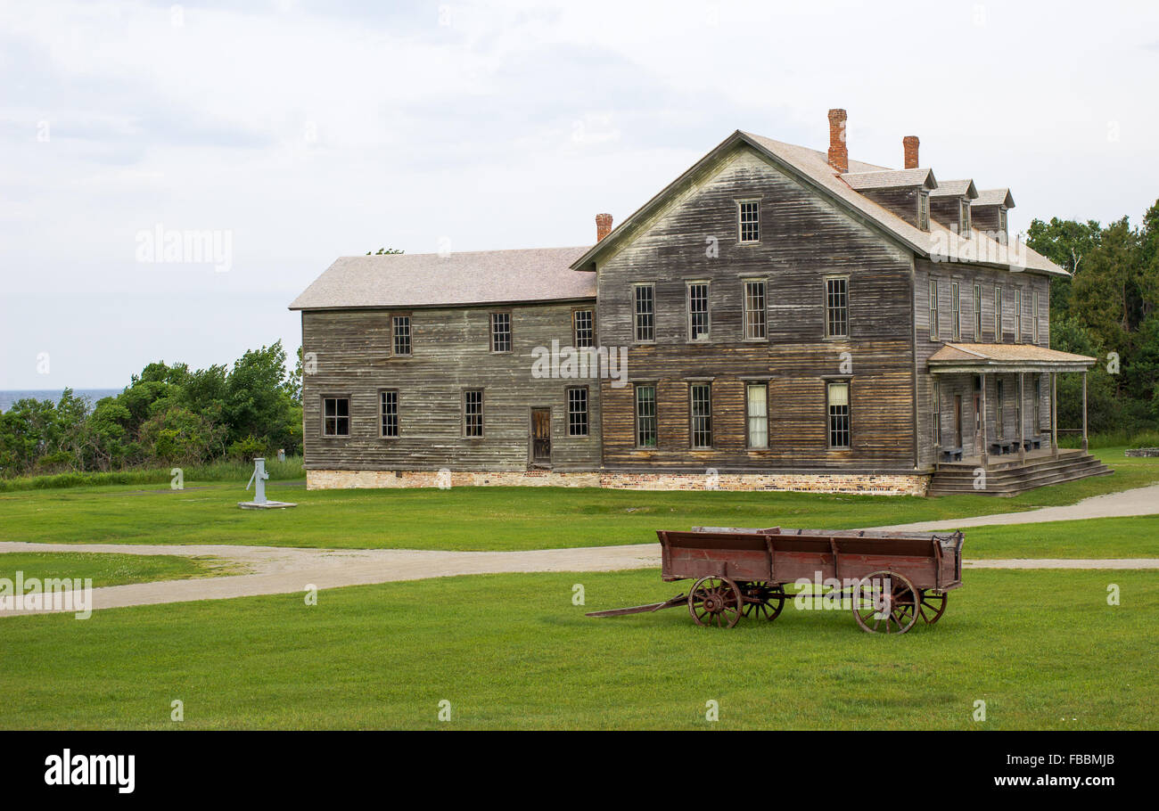
[[[0,577],[15,579],[36,577],[92,578],[93,587],[119,586],[126,583],[183,580],[191,577],[240,575],[245,568],[216,557],[184,555],[118,555],[90,551],[9,551],[0,554]]]

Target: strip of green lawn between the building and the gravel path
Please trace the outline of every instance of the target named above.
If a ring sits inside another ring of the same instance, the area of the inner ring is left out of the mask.
[[[236,502],[248,497],[245,482],[187,482],[181,491],[109,485],[0,492],[0,524],[6,540],[19,541],[542,549],[653,542],[663,527],[848,528],[1011,512],[1159,481],[1159,459],[1128,459],[1122,448],[1096,453],[1115,467],[1113,476],[1015,498],[571,488],[307,491],[300,482],[270,482],[271,498],[299,506],[265,512],[238,509]]]

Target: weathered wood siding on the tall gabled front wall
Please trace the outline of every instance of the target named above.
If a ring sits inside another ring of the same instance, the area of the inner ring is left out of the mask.
[[[760,241],[739,243],[738,199],[760,198]],[[712,255],[713,248],[719,256]],[[658,443],[635,447],[634,390],[603,385],[610,469],[912,470],[910,254],[763,158],[739,149],[599,266],[599,342],[629,346],[657,387]],[[845,276],[850,337],[825,337],[825,278]],[[743,280],[766,282],[767,339],[745,341]],[[709,283],[710,336],[690,342],[686,283]],[[633,284],[656,285],[656,343],[636,344]],[[825,386],[847,375],[852,447],[828,447]],[[692,450],[690,378],[710,379],[713,447]],[[745,378],[767,378],[767,450],[748,450]]]

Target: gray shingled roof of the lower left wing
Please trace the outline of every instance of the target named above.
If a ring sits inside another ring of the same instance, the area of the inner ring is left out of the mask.
[[[290,309],[437,307],[596,298],[596,275],[570,269],[584,248],[342,256]]]

